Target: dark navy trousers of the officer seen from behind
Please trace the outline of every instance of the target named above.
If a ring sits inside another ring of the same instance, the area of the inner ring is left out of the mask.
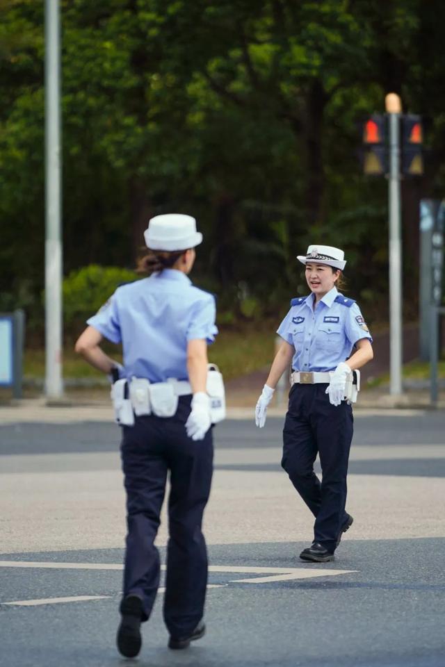
[[[179,397],[171,418],[136,417],[123,427],[121,444],[127,491],[127,549],[124,596],[143,600],[143,620],[152,611],[159,586],[159,552],[154,539],[160,524],[165,484],[168,498],[169,541],[163,614],[172,636],[191,634],[204,614],[207,588],[207,549],[201,531],[213,470],[213,438],[194,442],[184,427],[191,396]]]

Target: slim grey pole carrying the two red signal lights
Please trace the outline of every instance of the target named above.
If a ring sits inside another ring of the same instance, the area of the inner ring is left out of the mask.
[[[389,392],[401,394],[402,388],[402,244],[401,244],[401,173],[400,113],[389,117]]]

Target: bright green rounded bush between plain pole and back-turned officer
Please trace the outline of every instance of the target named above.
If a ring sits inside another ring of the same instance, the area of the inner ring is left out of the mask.
[[[122,283],[137,280],[138,275],[128,269],[90,264],[72,271],[63,279],[63,320],[70,333],[97,313]],[[75,333],[78,333],[76,331]]]

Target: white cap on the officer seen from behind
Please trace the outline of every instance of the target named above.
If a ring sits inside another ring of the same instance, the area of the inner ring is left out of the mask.
[[[191,215],[167,213],[149,220],[144,238],[151,250],[187,250],[200,245],[202,233],[196,231],[196,220]]]

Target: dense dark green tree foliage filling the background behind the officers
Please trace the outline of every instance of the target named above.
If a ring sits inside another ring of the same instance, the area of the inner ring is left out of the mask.
[[[305,290],[297,252],[319,241],[346,248],[351,293],[381,318],[386,182],[360,173],[357,123],[395,90],[431,117],[426,176],[403,185],[415,302],[419,197],[445,178],[442,2],[60,6],[66,273],[131,269],[148,218],[187,211],[204,231],[196,279],[223,307],[285,307]],[[0,0],[0,292],[17,305],[43,282],[43,23],[43,3]]]

